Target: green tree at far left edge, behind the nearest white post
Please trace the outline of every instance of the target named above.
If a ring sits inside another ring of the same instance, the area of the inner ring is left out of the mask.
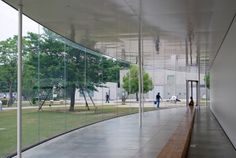
[[[31,47],[32,41],[35,40],[35,37],[33,38],[35,34],[31,33],[29,35],[32,35],[30,40],[23,37],[23,96],[32,93],[29,90],[33,85],[32,76],[35,73],[35,67],[27,62],[29,55],[34,53]],[[9,93],[8,106],[13,103],[13,92],[16,92],[17,40],[18,37],[13,36],[0,42],[0,89]]]

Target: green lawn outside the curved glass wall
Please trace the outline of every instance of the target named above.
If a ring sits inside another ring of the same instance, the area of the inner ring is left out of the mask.
[[[149,107],[144,110],[154,109]],[[40,112],[37,109],[24,109],[22,115],[23,147],[90,123],[137,112],[138,108],[118,108],[115,105],[99,106],[96,112],[93,108],[87,111],[85,107],[76,107],[75,112],[69,112],[65,107],[45,108]],[[16,110],[0,112],[0,157],[6,157],[15,151]]]

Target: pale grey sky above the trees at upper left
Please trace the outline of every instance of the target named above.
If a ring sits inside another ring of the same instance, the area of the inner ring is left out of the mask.
[[[18,12],[0,0],[0,41],[17,35],[17,27]],[[37,33],[38,30],[39,25],[36,22],[23,16],[23,35],[26,35],[27,32]]]

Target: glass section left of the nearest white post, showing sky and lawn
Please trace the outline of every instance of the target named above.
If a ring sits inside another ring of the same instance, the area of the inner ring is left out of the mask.
[[[17,12],[3,1],[0,8],[0,157],[6,157],[16,150]]]

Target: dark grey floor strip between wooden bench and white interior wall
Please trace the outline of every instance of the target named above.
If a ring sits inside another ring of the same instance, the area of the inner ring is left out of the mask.
[[[209,108],[196,110],[188,158],[236,158],[236,150]]]

